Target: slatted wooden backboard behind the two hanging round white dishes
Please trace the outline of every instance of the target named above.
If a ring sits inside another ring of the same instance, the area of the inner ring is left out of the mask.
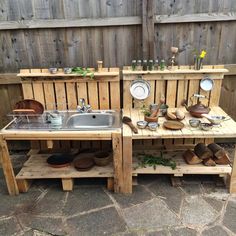
[[[181,107],[181,102],[185,99],[190,104],[190,97],[197,93],[205,95],[208,99],[203,100],[205,105],[210,107],[218,106],[220,100],[221,84],[224,73],[227,70],[224,66],[204,66],[201,70],[193,70],[189,66],[174,67],[173,70],[164,71],[132,71],[130,67],[123,69],[123,108],[139,108],[143,104],[150,105],[159,103],[163,96],[166,104],[170,108]],[[151,85],[150,96],[140,102],[132,98],[129,88],[133,80],[138,76],[148,81]],[[205,77],[210,77],[214,81],[212,91],[206,92],[200,88],[200,81]],[[195,99],[194,102],[197,100]],[[161,146],[161,145],[194,145],[198,142],[209,143],[212,139],[167,139],[167,140],[147,140],[135,141],[137,145]]]

